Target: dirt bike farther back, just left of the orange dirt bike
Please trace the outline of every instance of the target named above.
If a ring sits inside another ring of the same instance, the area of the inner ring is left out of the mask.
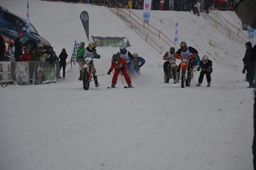
[[[170,79],[173,78],[173,83],[176,83],[176,72],[177,72],[177,65],[176,59],[169,59],[169,63],[164,63],[164,82],[168,83]],[[167,66],[166,66],[167,65]],[[167,67],[167,70],[165,70]],[[167,72],[166,72],[167,71]]]

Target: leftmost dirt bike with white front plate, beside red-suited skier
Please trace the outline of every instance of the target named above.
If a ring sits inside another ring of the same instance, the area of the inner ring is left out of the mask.
[[[92,77],[93,77],[93,72],[94,72],[93,59],[85,58],[83,69],[82,69],[82,80],[83,80],[84,90],[89,89],[90,82],[92,81]]]

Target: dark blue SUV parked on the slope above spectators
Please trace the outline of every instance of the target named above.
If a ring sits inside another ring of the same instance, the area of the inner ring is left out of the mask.
[[[0,31],[3,33],[6,42],[9,39],[14,42],[18,36],[22,36],[23,45],[32,49],[36,49],[38,46],[50,45],[47,40],[38,35],[38,32],[31,23],[28,35],[26,33],[26,19],[9,12],[2,6],[0,6]]]

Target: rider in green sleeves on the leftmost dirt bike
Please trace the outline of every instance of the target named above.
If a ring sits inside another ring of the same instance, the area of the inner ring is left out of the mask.
[[[97,59],[100,58],[100,55],[97,53],[95,43],[89,43],[88,47],[86,47],[86,49],[84,50],[83,62],[79,63],[80,68],[83,68],[85,58],[97,58]],[[94,80],[94,83],[95,83],[95,87],[98,88],[100,86],[100,84],[98,82],[98,78],[97,78],[97,75],[96,75],[97,70],[96,70],[94,65],[93,65],[93,70],[94,70],[93,80]]]

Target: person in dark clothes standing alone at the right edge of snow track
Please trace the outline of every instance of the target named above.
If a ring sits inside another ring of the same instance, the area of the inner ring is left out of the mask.
[[[246,66],[247,74],[246,74],[246,81],[249,82],[249,86],[247,88],[253,88],[253,81],[255,75],[255,58],[256,56],[253,55],[252,43],[246,42],[245,43],[246,52],[244,54],[243,62],[244,66]]]

